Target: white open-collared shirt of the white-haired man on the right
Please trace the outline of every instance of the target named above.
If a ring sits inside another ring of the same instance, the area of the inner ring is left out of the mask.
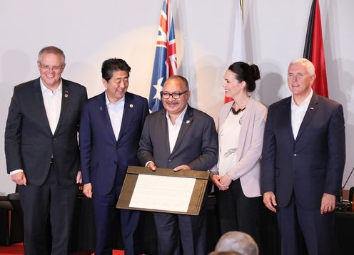
[[[291,96],[291,127],[293,129],[294,139],[298,136],[298,130],[300,129],[300,125],[303,122],[303,118],[305,117],[306,110],[308,110],[308,105],[310,104],[310,100],[313,95],[313,90],[311,89],[310,94],[308,95],[303,103],[300,105],[296,105],[293,96]]]

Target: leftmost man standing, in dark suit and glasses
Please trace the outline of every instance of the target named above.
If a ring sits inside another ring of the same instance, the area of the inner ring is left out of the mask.
[[[86,88],[61,78],[65,56],[54,46],[38,56],[40,78],[14,88],[5,131],[7,171],[19,185],[26,254],[68,254],[79,172],[77,135]]]

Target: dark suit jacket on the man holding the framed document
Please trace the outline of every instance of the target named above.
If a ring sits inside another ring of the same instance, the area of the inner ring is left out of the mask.
[[[153,161],[156,167],[188,165],[192,170],[207,171],[218,160],[218,135],[213,118],[188,105],[176,145],[170,153],[166,110],[146,118],[138,149],[141,165]]]

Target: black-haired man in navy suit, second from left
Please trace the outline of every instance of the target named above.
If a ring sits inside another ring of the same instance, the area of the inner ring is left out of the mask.
[[[84,194],[93,195],[96,220],[96,254],[112,254],[116,203],[128,165],[139,165],[136,152],[148,115],[148,101],[126,92],[131,68],[110,58],[102,64],[106,91],[89,99],[80,123],[81,171]],[[125,254],[141,254],[138,227],[140,212],[120,210]]]

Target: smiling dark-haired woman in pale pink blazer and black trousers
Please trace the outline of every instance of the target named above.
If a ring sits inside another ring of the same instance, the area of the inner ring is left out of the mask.
[[[219,160],[211,170],[221,234],[243,231],[260,245],[260,158],[267,108],[250,97],[260,78],[258,66],[233,63],[223,88],[233,101],[220,110]]]

